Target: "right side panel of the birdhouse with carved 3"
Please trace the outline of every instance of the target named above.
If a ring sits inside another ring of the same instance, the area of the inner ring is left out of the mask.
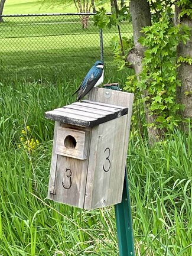
[[[92,130],[85,209],[121,202],[126,164],[123,154],[126,122],[127,115],[124,115]]]

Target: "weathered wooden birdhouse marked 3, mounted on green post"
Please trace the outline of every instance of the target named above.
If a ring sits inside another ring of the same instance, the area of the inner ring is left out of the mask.
[[[95,209],[121,202],[133,95],[100,88],[89,99],[45,113],[56,121],[48,199]]]

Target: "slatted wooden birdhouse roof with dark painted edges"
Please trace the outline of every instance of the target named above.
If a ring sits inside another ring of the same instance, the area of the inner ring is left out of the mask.
[[[81,101],[45,112],[45,117],[64,124],[95,127],[126,114],[128,114],[128,108],[123,106],[95,101]]]

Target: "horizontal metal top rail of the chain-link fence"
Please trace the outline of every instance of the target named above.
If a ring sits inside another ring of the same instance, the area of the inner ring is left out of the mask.
[[[111,15],[112,12],[106,12],[107,15]],[[96,12],[75,12],[75,13],[63,13],[63,14],[6,14],[0,15],[0,17],[38,17],[38,16],[79,16],[79,15],[96,15]]]

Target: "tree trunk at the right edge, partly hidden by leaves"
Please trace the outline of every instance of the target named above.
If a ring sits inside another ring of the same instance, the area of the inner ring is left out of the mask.
[[[187,25],[192,31],[192,20],[190,17],[179,18],[181,12],[180,7],[175,7],[175,22],[176,24]],[[180,43],[177,47],[177,57],[192,58],[192,33],[190,40],[186,44]],[[178,79],[181,80],[181,87],[177,88],[177,100],[185,105],[182,112],[184,118],[192,118],[192,64],[187,62],[181,63],[178,67]]]

